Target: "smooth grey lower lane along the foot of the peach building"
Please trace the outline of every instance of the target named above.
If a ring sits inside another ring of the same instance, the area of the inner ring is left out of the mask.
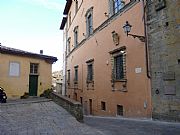
[[[106,135],[180,135],[180,123],[93,116],[84,122]]]

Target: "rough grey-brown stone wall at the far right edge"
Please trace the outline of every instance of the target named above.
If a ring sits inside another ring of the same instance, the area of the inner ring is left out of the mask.
[[[180,1],[147,0],[152,116],[180,121]]]

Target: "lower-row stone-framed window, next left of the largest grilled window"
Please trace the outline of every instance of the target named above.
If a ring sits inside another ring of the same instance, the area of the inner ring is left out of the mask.
[[[90,59],[87,62],[87,82],[93,82],[93,63],[94,59]]]

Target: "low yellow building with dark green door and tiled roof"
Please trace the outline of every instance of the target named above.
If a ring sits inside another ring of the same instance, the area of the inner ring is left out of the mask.
[[[51,88],[52,64],[56,57],[0,46],[0,86],[8,99],[25,92],[39,96]]]

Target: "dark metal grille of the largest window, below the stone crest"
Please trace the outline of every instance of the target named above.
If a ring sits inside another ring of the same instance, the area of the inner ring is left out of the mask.
[[[114,57],[114,79],[121,80],[124,79],[124,62],[123,55],[118,55]]]

